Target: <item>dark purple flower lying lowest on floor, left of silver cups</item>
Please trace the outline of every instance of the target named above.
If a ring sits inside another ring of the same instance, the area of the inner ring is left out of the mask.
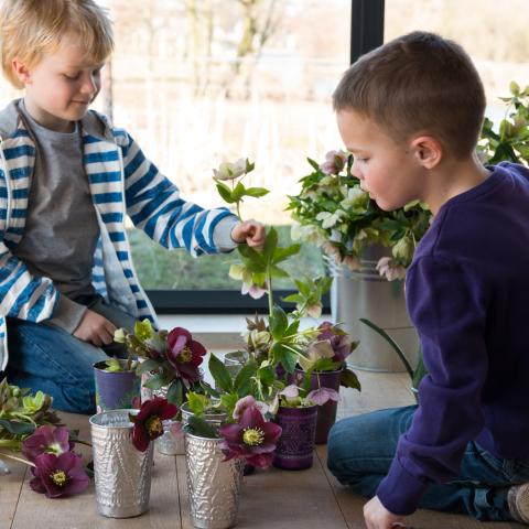
[[[31,472],[34,476],[30,482],[31,488],[48,498],[82,493],[89,483],[80,455],[73,452],[41,454],[35,458],[35,467]]]

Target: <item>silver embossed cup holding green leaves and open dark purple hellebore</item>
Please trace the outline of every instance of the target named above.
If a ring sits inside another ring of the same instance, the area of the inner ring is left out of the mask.
[[[281,429],[251,395],[272,395],[273,370],[249,359],[233,379],[215,355],[209,370],[215,388],[202,382],[184,404],[187,489],[193,525],[223,529],[237,522],[245,463],[270,466]]]

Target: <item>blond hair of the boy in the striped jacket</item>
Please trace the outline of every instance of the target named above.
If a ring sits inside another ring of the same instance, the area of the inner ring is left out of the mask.
[[[79,39],[87,60],[96,64],[105,62],[114,50],[111,21],[94,0],[3,0],[0,56],[4,76],[23,88],[12,67],[13,58],[32,68],[45,54],[56,52],[68,35]]]

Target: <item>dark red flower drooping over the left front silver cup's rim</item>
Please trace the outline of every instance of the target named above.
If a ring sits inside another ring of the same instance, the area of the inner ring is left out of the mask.
[[[131,422],[134,423],[134,428],[132,429],[132,444],[140,452],[144,452],[152,440],[162,435],[162,421],[172,419],[177,412],[179,409],[162,397],[145,400],[141,404],[138,414],[129,415]]]

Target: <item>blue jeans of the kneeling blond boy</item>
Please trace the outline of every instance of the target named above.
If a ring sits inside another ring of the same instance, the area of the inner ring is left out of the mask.
[[[133,328],[134,319],[102,301],[90,305],[118,327]],[[8,317],[10,384],[53,397],[53,408],[73,413],[95,413],[94,368],[109,356],[123,357],[120,344],[98,348],[46,323]]]

